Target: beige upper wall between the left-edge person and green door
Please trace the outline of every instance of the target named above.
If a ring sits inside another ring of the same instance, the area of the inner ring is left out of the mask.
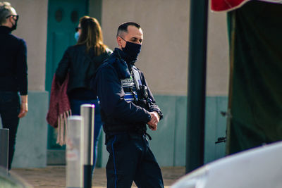
[[[28,90],[45,90],[48,0],[9,0],[20,18],[13,35],[27,43]]]

